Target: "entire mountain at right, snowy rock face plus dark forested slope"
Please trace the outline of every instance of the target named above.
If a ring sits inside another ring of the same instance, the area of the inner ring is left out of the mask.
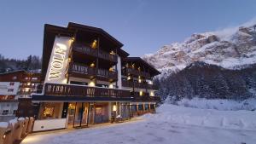
[[[196,33],[143,59],[162,72],[155,82],[163,98],[256,96],[256,25]]]

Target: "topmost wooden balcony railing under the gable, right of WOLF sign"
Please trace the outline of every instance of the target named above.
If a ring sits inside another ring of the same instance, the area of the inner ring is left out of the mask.
[[[74,44],[73,45],[73,50],[80,52],[80,53],[84,53],[86,55],[91,55],[91,56],[95,56],[103,60],[109,60],[109,61],[113,61],[113,62],[117,62],[117,55],[112,55],[112,54],[108,54],[107,52],[102,51],[101,49],[99,49],[99,53],[97,54],[97,50],[96,49],[92,49],[90,47],[84,46],[82,44]]]

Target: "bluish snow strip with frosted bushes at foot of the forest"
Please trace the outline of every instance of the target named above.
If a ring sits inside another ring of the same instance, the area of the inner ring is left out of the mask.
[[[216,109],[222,111],[237,110],[256,110],[256,99],[247,99],[245,101],[214,99],[207,100],[203,98],[193,98],[192,100],[183,99],[177,101],[178,106],[195,107],[202,109]]]

